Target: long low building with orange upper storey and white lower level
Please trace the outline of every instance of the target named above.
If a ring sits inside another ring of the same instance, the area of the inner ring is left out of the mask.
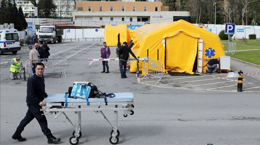
[[[162,2],[84,1],[76,3],[73,19],[75,23],[142,24],[172,22],[180,18],[188,21],[189,15],[188,11],[169,11]]]

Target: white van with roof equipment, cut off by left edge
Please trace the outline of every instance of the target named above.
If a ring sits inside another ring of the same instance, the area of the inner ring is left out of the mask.
[[[0,55],[5,52],[12,52],[16,54],[21,50],[18,31],[14,29],[14,24],[8,25],[5,23],[1,25],[0,30]]]

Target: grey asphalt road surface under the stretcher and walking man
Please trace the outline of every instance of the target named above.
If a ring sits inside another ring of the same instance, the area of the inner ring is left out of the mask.
[[[44,75],[48,94],[65,93],[76,81],[92,82],[103,92],[134,94],[134,115],[124,118],[123,112],[119,111],[118,144],[260,144],[259,92],[155,87],[138,83],[136,75],[131,73],[127,73],[128,78],[121,79],[117,61],[108,62],[109,74],[101,74],[102,62],[86,61],[100,58],[100,41],[65,41],[48,46],[52,54],[50,58],[65,57],[68,65],[67,78],[64,74],[60,77],[60,73]],[[18,54],[25,65],[29,58],[28,48],[22,48]],[[15,56],[11,53],[0,56],[1,73],[9,73],[11,58]],[[111,47],[110,58],[116,58],[115,47]],[[253,78],[247,80],[259,86],[259,81]],[[25,142],[11,139],[27,111],[27,81],[10,80],[8,74],[1,74],[0,81],[0,144],[47,144],[36,119],[22,133],[27,139]],[[67,115],[72,120],[76,119],[73,112]],[[113,120],[111,111],[106,111],[105,115]],[[244,119],[234,119],[233,116],[243,116]],[[54,119],[51,115],[46,115],[46,118],[52,134],[61,138],[60,144],[70,144],[69,138],[74,129],[66,117],[60,115]],[[81,120],[82,137],[79,144],[110,144],[111,126],[101,114],[82,112]]]

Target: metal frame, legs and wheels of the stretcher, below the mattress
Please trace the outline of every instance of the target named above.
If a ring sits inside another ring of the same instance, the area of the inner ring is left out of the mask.
[[[82,108],[82,106],[87,108]],[[93,108],[93,106],[96,106],[97,108]],[[65,106],[65,103],[46,103],[46,108],[41,109],[41,111],[44,112],[42,115],[52,115],[55,119],[61,114],[65,115],[66,119],[68,119],[72,126],[75,127],[75,131],[72,133],[73,136],[70,138],[70,143],[72,145],[78,144],[79,138],[82,135],[80,131],[82,129],[81,111],[94,111],[95,113],[101,113],[112,127],[112,131],[110,133],[111,137],[109,139],[110,143],[117,144],[119,142],[119,131],[117,129],[118,111],[124,111],[124,117],[127,117],[128,114],[134,114],[133,108],[133,102],[89,103],[89,106],[87,106],[87,103],[68,103],[68,106]],[[72,123],[72,121],[65,114],[67,111],[73,111],[76,114],[75,124]],[[112,125],[106,118],[103,111],[114,111],[114,125]],[[58,115],[56,115],[57,113]]]

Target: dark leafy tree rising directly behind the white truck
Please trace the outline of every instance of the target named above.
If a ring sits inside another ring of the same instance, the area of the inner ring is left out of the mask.
[[[39,0],[38,2],[38,15],[39,17],[44,18],[55,18],[56,14],[56,6],[53,0]]]

